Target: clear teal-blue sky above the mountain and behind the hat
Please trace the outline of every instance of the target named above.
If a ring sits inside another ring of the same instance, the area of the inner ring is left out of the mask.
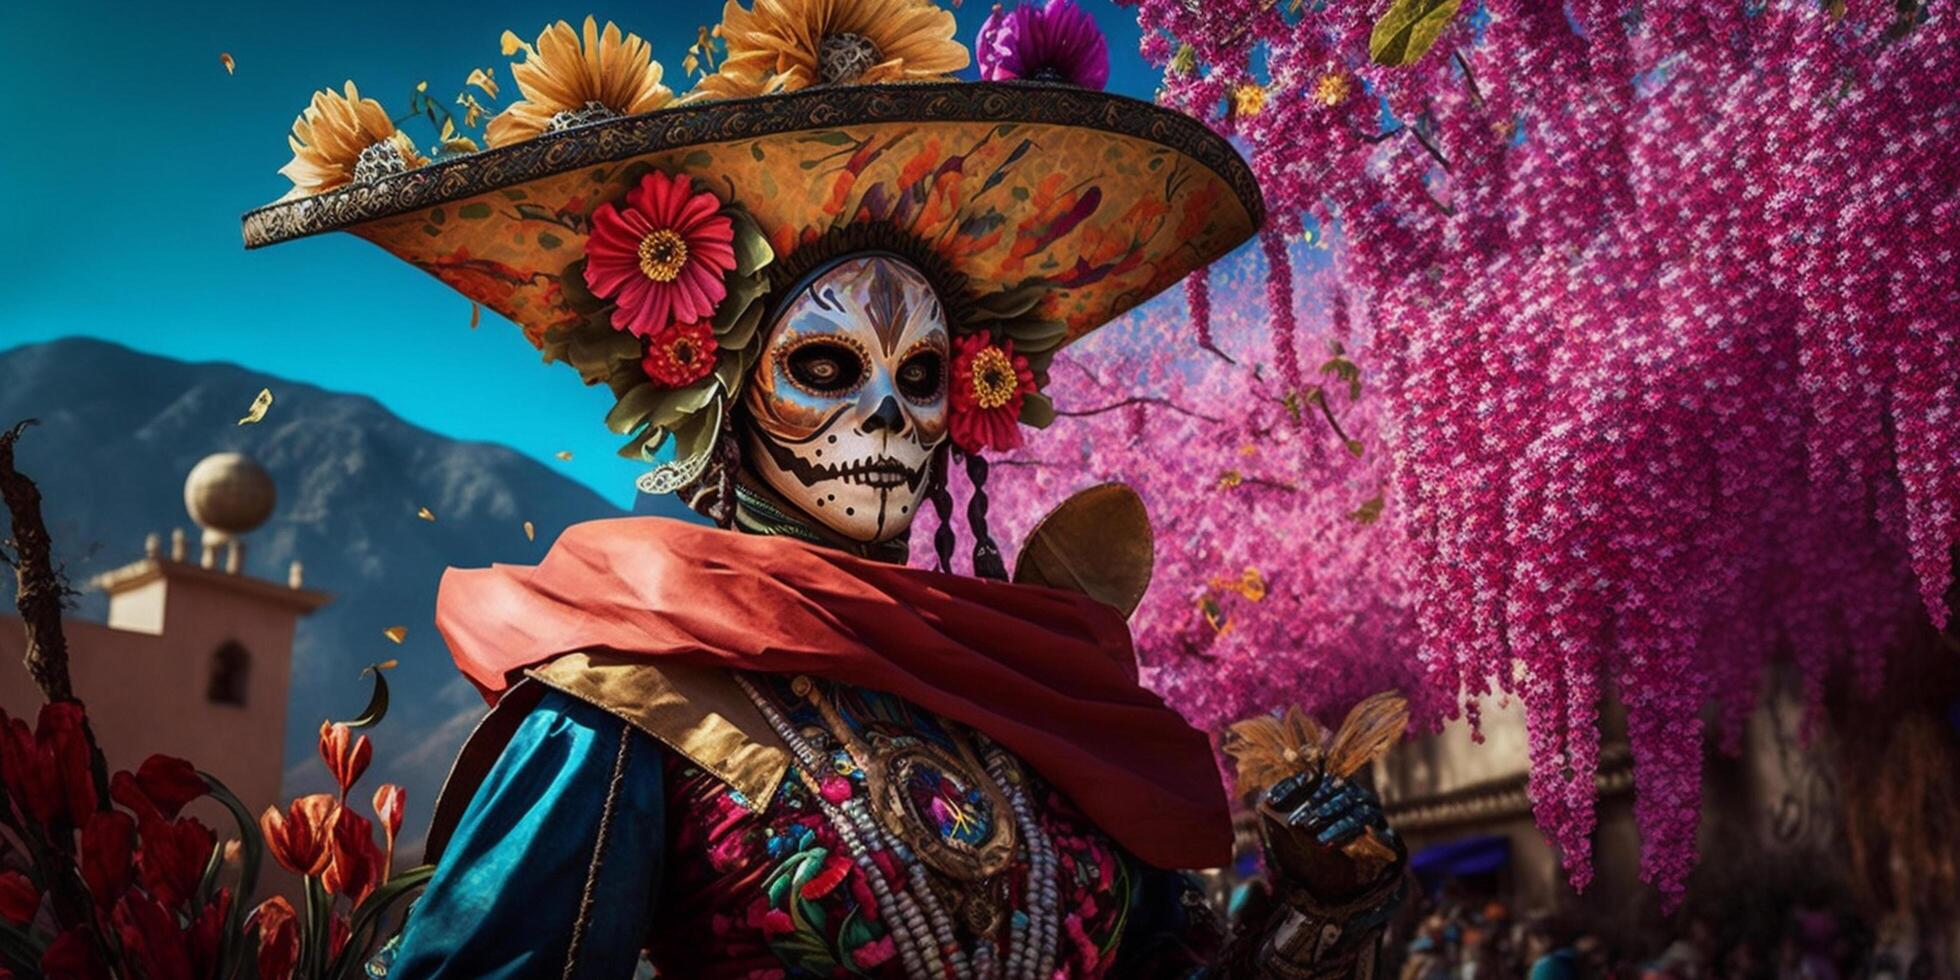
[[[1131,12],[1082,2],[1109,33],[1109,88],[1151,98]],[[990,8],[956,12],[962,41]],[[610,398],[539,365],[514,325],[486,314],[470,331],[466,300],[349,235],[253,253],[239,243],[239,214],[286,190],[286,131],[316,88],[353,78],[402,114],[419,80],[453,98],[470,69],[496,65],[508,86],[506,27],[531,37],[586,14],[647,37],[678,80],[696,25],[717,22],[721,4],[0,4],[12,41],[0,59],[0,349],[82,333],[361,392],[627,504],[641,466],[613,457]],[[253,394],[239,392],[241,414]]]

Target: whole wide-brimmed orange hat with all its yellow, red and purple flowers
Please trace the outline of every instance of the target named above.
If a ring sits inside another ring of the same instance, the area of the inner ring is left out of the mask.
[[[757,335],[798,276],[886,251],[955,335],[953,443],[1047,425],[1049,359],[1225,255],[1262,221],[1245,161],[1203,123],[1100,88],[1072,0],[996,8],[976,39],[927,0],[729,0],[680,61],[613,24],[504,31],[453,100],[410,94],[423,149],[353,82],[294,122],[292,192],[247,247],[351,231],[523,327],[615,404],[645,492],[690,492],[731,443]],[[472,314],[474,321],[474,314]],[[661,455],[670,445],[670,455]]]

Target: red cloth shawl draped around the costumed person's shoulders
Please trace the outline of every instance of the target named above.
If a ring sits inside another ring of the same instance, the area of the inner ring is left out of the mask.
[[[1074,592],[621,517],[537,566],[451,568],[435,623],[490,700],[574,651],[890,692],[984,731],[1151,864],[1231,860],[1209,741],[1139,686],[1123,617]]]

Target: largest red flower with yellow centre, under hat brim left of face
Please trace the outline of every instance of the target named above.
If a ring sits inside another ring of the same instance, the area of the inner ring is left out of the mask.
[[[586,241],[586,286],[613,302],[615,329],[655,337],[672,323],[713,316],[735,269],[735,223],[713,192],[696,192],[686,174],[653,171],[625,194],[600,204]]]

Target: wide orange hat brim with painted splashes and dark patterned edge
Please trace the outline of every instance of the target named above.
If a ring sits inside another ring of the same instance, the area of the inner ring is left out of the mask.
[[[894,227],[974,288],[1033,288],[1068,341],[1264,220],[1250,169],[1190,116],[1062,84],[911,82],[682,104],[545,133],[247,212],[245,245],[351,231],[541,345],[578,318],[564,276],[584,257],[592,212],[653,169],[747,210],[776,255],[857,223]]]

